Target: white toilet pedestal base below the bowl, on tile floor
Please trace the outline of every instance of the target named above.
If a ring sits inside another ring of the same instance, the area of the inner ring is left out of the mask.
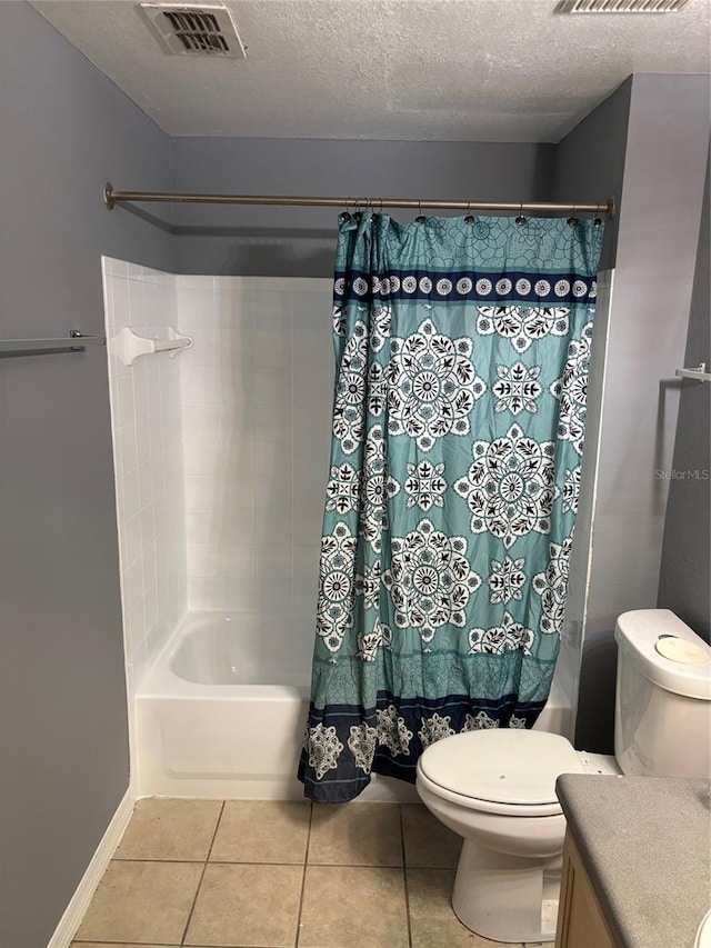
[[[525,859],[464,840],[452,892],[467,928],[494,941],[552,941],[561,857]]]

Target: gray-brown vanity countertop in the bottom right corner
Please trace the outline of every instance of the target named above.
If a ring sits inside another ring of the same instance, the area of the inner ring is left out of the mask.
[[[711,781],[564,774],[555,790],[621,948],[694,948],[711,907]]]

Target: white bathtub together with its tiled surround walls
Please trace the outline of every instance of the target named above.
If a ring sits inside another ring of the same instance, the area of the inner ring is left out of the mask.
[[[299,799],[329,467],[332,281],[104,265],[110,337],[122,325],[171,325],[193,339],[174,360],[157,353],[131,369],[109,356],[137,792]],[[150,448],[141,465],[134,439]],[[149,492],[142,505],[139,492],[136,511],[131,471],[142,475],[139,489],[173,492]],[[184,566],[158,526],[164,502],[177,546],[184,518]],[[143,543],[127,525],[151,509]],[[150,621],[161,561],[176,591],[168,613],[176,617],[176,602],[190,610],[174,632]],[[569,719],[557,687],[540,727],[568,734]],[[407,800],[414,790],[374,778],[363,796]]]

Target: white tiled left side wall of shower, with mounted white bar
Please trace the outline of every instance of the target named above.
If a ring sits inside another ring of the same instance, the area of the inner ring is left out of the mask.
[[[180,363],[169,353],[132,366],[114,353],[124,327],[168,336],[176,321],[171,275],[102,259],[111,433],[129,720],[147,668],[188,605]],[[131,746],[136,746],[132,727]]]

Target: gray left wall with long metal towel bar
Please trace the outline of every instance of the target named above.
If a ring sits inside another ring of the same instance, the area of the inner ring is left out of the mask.
[[[0,337],[103,332],[100,255],[172,267],[106,177],[168,138],[38,13],[0,3]],[[0,360],[0,945],[41,948],[129,782],[106,351]]]

